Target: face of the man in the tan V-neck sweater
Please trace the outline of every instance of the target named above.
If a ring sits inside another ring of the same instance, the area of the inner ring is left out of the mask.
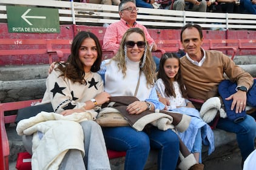
[[[182,34],[182,45],[184,50],[189,54],[192,59],[201,58],[201,45],[203,44],[203,38],[200,38],[200,34],[197,28],[186,28]]]

